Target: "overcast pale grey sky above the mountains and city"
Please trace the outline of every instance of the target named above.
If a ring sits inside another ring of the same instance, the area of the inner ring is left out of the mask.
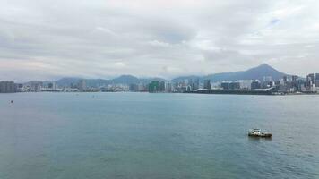
[[[0,80],[319,72],[318,0],[0,0]]]

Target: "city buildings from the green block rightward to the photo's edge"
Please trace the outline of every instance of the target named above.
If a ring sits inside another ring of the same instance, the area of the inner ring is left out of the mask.
[[[149,92],[190,92],[196,90],[259,90],[270,89],[280,94],[319,93],[319,73],[308,74],[305,78],[297,75],[283,76],[280,80],[272,80],[271,76],[263,80],[240,80],[211,82],[206,79],[189,79],[182,82],[151,81]]]

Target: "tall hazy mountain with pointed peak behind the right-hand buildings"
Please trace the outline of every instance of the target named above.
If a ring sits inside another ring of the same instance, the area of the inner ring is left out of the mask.
[[[209,74],[206,76],[199,77],[199,79],[200,79],[200,81],[203,81],[205,79],[210,79],[212,82],[238,81],[238,80],[263,81],[264,76],[271,76],[272,80],[279,80],[285,75],[287,75],[287,74],[285,74],[283,72],[279,72],[278,70],[272,68],[272,66],[270,66],[268,64],[261,64],[257,67],[248,69],[246,71],[214,73],[214,74]],[[178,77],[176,79],[173,79],[173,81],[183,81],[183,80],[188,79],[188,78],[189,78],[189,76]]]

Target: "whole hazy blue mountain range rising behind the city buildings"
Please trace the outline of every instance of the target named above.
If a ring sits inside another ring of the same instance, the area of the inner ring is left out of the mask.
[[[181,76],[171,81],[179,82],[185,81],[186,79],[199,79],[200,81],[210,79],[211,82],[218,82],[218,81],[237,81],[237,80],[259,80],[263,81],[264,76],[271,76],[272,80],[279,80],[283,76],[285,76],[284,72],[279,72],[278,70],[272,68],[272,66],[268,64],[261,64],[257,67],[248,69],[246,71],[239,71],[239,72],[221,72],[221,73],[213,73],[205,76]],[[78,83],[81,78],[62,78],[56,81],[57,85],[59,86],[72,86]],[[105,86],[108,84],[132,84],[132,83],[149,83],[151,81],[167,81],[162,78],[137,78],[133,75],[122,75],[115,79],[111,80],[104,80],[104,79],[84,79],[87,86],[90,87],[99,87]]]

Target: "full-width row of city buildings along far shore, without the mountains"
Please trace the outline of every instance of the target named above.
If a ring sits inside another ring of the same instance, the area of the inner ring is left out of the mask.
[[[0,93],[11,92],[38,92],[38,91],[64,91],[64,92],[191,92],[196,90],[258,90],[270,89],[281,94],[287,93],[319,93],[319,73],[311,73],[306,78],[296,75],[284,76],[280,80],[272,80],[271,76],[259,80],[220,81],[211,82],[198,78],[183,81],[151,81],[150,83],[108,84],[101,87],[91,87],[85,80],[75,84],[59,87],[55,81],[30,81],[23,84],[13,81],[0,81]]]

